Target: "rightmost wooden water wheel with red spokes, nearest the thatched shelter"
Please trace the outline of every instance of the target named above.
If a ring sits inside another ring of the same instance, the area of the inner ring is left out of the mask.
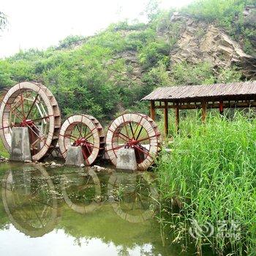
[[[157,124],[140,113],[119,116],[108,127],[106,151],[116,165],[119,148],[134,148],[138,170],[146,170],[160,150],[161,134]]]

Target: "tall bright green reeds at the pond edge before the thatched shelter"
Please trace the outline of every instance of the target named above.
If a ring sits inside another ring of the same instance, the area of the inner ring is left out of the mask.
[[[256,120],[236,113],[233,120],[209,117],[205,125],[192,124],[176,135],[172,153],[163,152],[157,166],[165,217],[162,223],[175,233],[176,241],[188,242],[190,220],[217,229],[218,221],[241,227],[241,239],[197,237],[198,252],[204,244],[217,255],[255,255],[256,248]],[[192,239],[192,238],[191,238]],[[189,238],[190,240],[190,238]],[[226,254],[225,254],[226,255]]]

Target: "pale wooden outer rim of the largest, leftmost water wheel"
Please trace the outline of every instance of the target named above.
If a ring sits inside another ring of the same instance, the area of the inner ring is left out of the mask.
[[[59,128],[61,126],[61,114],[59,111],[59,105],[56,102],[55,97],[45,86],[39,83],[23,82],[18,83],[5,94],[0,108],[0,137],[4,143],[5,148],[10,151],[11,143],[11,128],[10,115],[12,113],[12,104],[19,95],[25,91],[32,91],[39,95],[42,99],[42,103],[48,111],[48,116],[43,116],[41,119],[48,118],[48,133],[45,134],[42,148],[36,154],[32,154],[32,159],[38,161],[42,157],[50,154],[50,151],[56,146],[58,141]],[[33,106],[32,106],[33,108]]]

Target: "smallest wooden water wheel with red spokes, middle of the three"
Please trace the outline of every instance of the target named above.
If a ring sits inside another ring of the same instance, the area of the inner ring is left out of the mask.
[[[91,165],[104,151],[102,125],[93,116],[70,116],[62,124],[59,134],[59,148],[64,158],[67,157],[69,146],[81,146],[86,165]]]

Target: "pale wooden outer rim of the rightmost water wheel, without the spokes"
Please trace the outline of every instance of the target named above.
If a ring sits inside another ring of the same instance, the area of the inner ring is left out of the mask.
[[[125,145],[118,145],[119,132],[121,132],[121,129],[129,123],[138,124],[146,130],[149,140],[148,155],[142,162],[138,163],[138,170],[146,170],[154,162],[154,159],[160,150],[161,143],[161,135],[157,124],[146,115],[140,113],[127,113],[118,116],[118,118],[110,124],[106,135],[106,151],[108,153],[108,157],[113,165],[116,165],[117,150],[118,148],[125,147]]]

